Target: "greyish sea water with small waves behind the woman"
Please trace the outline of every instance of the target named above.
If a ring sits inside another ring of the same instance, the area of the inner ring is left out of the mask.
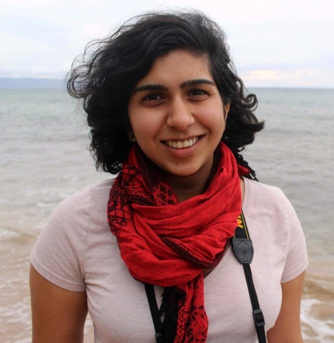
[[[266,129],[244,153],[260,181],[281,187],[308,242],[305,343],[334,342],[334,90],[254,89]],[[62,90],[0,90],[0,342],[30,341],[29,253],[64,197],[108,177]],[[85,343],[92,342],[91,323]]]

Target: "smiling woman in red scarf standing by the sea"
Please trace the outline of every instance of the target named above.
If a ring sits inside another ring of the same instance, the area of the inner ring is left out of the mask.
[[[267,340],[302,342],[303,232],[240,155],[263,123],[222,30],[197,12],[146,14],[91,47],[68,89],[83,99],[97,167],[120,173],[64,200],[39,237],[32,342],[82,342],[87,309],[97,343],[256,342],[229,248],[242,210]],[[163,321],[156,339],[144,284]]]

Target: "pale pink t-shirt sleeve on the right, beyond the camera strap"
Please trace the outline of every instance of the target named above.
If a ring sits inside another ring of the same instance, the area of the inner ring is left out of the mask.
[[[308,266],[308,254],[304,232],[297,214],[290,203],[284,196],[286,225],[288,230],[288,252],[287,259],[282,275],[282,283],[291,281],[303,273]]]

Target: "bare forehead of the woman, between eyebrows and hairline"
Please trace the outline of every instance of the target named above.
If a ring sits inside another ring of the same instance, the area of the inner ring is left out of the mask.
[[[151,82],[182,83],[198,78],[214,81],[208,57],[187,50],[173,50],[158,57],[149,72],[139,80],[137,86]]]

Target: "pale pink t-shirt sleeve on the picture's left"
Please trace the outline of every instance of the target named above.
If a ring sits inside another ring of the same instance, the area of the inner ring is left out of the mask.
[[[61,202],[46,222],[30,256],[41,276],[69,291],[85,291],[83,265],[89,208],[89,189]]]

